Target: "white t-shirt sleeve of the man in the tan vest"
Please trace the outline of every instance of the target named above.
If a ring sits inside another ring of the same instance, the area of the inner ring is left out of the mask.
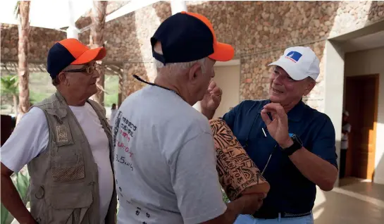
[[[18,172],[47,149],[48,141],[47,118],[42,109],[33,107],[25,113],[1,147],[1,163],[13,172]]]

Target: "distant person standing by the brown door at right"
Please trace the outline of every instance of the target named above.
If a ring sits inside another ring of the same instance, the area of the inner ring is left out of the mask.
[[[347,160],[348,135],[351,132],[351,124],[348,122],[348,111],[342,112],[341,144],[340,144],[340,178],[345,177],[345,161]]]

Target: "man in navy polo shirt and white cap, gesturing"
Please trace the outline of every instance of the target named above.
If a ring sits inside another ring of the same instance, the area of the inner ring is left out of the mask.
[[[319,61],[309,47],[295,46],[270,66],[269,99],[242,101],[223,116],[271,185],[261,209],[235,223],[313,223],[316,185],[330,191],[337,179],[333,123],[302,101],[316,85]],[[221,99],[218,87],[210,89],[202,101],[209,119]]]

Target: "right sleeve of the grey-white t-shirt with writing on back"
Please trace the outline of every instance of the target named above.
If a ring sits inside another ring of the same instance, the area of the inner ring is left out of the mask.
[[[202,132],[188,140],[170,166],[173,189],[185,224],[202,223],[225,212],[211,134]]]

